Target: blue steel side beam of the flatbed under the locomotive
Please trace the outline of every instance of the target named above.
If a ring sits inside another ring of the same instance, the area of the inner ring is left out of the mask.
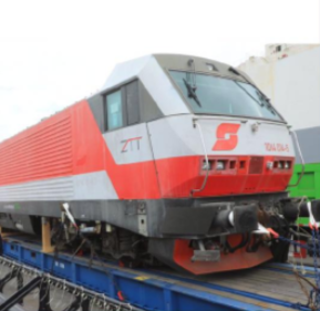
[[[180,286],[173,280],[163,281],[156,276],[146,277],[143,272],[130,272],[110,263],[89,267],[87,260],[41,252],[37,246],[24,246],[3,241],[3,256],[13,258],[21,263],[32,266],[75,284],[83,286],[96,292],[103,292],[113,299],[120,299],[144,310],[192,311],[192,310],[270,310],[245,303],[210,292],[200,291],[194,286]],[[99,262],[100,263],[100,262]]]

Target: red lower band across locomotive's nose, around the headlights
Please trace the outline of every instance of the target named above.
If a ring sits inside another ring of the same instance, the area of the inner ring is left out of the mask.
[[[214,157],[214,159],[218,158],[235,162],[235,168],[210,170],[204,190],[195,193],[195,197],[283,191],[292,175],[292,168],[278,172],[267,169],[267,162],[279,157],[265,157],[260,174],[250,174],[250,156]],[[206,172],[200,172],[203,159],[203,156],[187,156],[156,160],[163,197],[189,197],[192,189],[199,189],[206,175]],[[293,162],[293,158],[282,159]],[[240,162],[247,165],[240,168]]]

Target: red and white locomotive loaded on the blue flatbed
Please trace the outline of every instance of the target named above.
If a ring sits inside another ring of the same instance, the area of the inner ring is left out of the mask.
[[[37,234],[68,205],[78,230],[124,262],[244,269],[287,256],[265,228],[286,235],[296,219],[293,162],[287,123],[244,73],[148,55],[0,144],[0,226]]]

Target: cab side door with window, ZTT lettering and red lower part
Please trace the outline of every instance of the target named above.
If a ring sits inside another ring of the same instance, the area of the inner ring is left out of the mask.
[[[146,123],[141,120],[138,81],[105,95],[104,139],[114,165],[106,170],[120,199],[155,199],[159,189]]]

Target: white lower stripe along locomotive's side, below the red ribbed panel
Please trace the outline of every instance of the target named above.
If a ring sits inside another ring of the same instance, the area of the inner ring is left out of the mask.
[[[117,199],[106,172],[0,187],[1,201]]]

